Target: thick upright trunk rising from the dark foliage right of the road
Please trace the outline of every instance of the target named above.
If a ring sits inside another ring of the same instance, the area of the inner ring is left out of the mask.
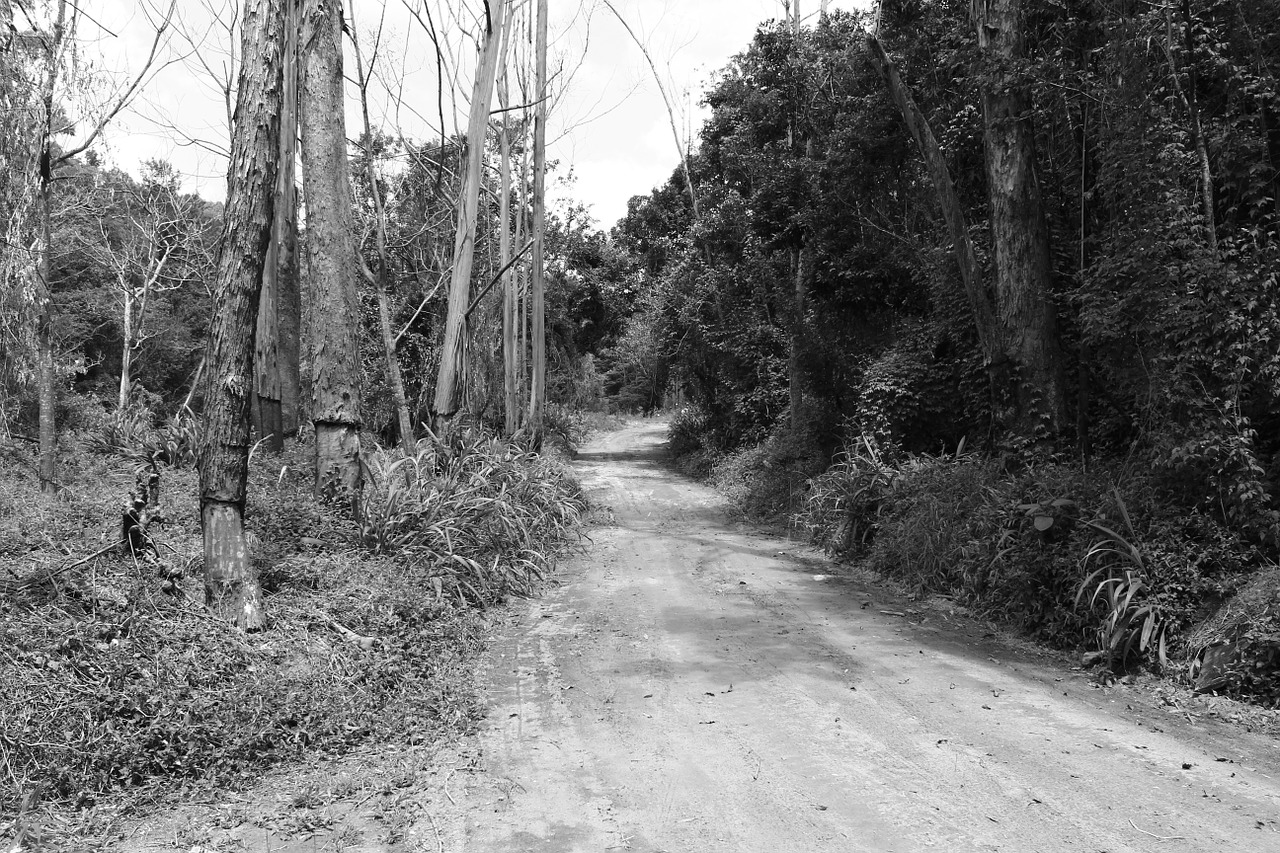
[[[1065,423],[1062,359],[1050,301],[1048,225],[1036,177],[1030,91],[1012,77],[1024,59],[1021,0],[974,0],[978,46],[992,82],[983,87],[987,192],[997,311],[1006,350],[1018,365],[1015,430],[1056,434]]]

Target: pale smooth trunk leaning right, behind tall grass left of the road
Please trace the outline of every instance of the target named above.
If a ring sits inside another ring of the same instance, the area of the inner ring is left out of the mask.
[[[466,313],[471,305],[471,269],[475,264],[476,213],[480,205],[480,183],[484,178],[484,143],[489,129],[489,101],[493,96],[498,72],[498,54],[506,0],[488,4],[492,12],[476,82],[471,92],[471,117],[467,123],[467,163],[458,195],[458,227],[453,241],[453,275],[449,279],[449,311],[444,325],[444,346],[440,351],[440,369],[435,377],[435,398],[431,416],[436,433],[444,434],[449,420],[458,412],[462,398],[462,378],[466,373]]]

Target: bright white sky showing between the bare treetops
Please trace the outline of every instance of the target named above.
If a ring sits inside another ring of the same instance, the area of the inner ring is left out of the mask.
[[[396,127],[410,138],[429,138],[436,111],[434,53],[408,8],[422,0],[347,0],[357,17],[362,47],[371,53],[381,23],[375,68],[372,122]],[[429,0],[447,33],[448,53],[458,56],[457,79],[445,86],[445,124],[465,127],[475,55],[477,0]],[[137,73],[148,53],[154,27],[145,12],[161,0],[101,0],[93,22],[81,29],[82,56],[100,72],[102,100]],[[800,0],[812,23],[818,0]],[[233,0],[178,0],[178,18],[161,54],[164,67],[152,72],[141,96],[118,115],[99,150],[108,163],[129,172],[148,158],[170,160],[186,177],[187,190],[207,199],[225,195],[227,108],[218,81],[233,67],[232,42],[219,14],[227,18]],[[699,106],[708,85],[732,55],[746,49],[755,28],[781,18],[781,0],[613,0],[645,42],[664,77],[682,137],[705,118]],[[865,9],[870,0],[831,0],[831,9]],[[454,9],[449,15],[444,9]],[[550,0],[552,68],[562,69],[548,122],[548,156],[559,163],[552,179],[561,204],[572,199],[588,206],[602,228],[625,213],[627,200],[662,184],[678,164],[671,124],[653,73],[626,29],[599,0]],[[150,18],[155,19],[151,12]],[[348,73],[352,58],[348,46]],[[385,81],[393,81],[385,83]],[[402,82],[401,82],[402,81]],[[114,88],[113,88],[114,87]],[[515,83],[513,83],[515,88]],[[393,96],[392,92],[399,92]],[[358,109],[351,86],[348,136],[356,136]],[[516,95],[512,96],[517,99]],[[431,117],[426,119],[424,117]],[[572,173],[572,182],[566,182]]]

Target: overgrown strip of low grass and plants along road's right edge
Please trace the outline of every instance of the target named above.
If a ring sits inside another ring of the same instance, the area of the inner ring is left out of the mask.
[[[1280,592],[1263,544],[1121,461],[1088,469],[922,456],[859,438],[824,466],[786,437],[713,453],[672,426],[677,464],[741,508],[919,594],[1033,640],[1280,707]],[[824,469],[824,470],[823,470]]]

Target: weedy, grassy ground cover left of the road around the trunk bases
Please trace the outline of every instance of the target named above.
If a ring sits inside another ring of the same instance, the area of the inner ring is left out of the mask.
[[[0,838],[37,812],[92,824],[179,781],[471,730],[477,606],[532,592],[585,510],[562,466],[486,438],[372,455],[358,521],[314,500],[302,448],[257,457],[270,626],[244,635],[202,605],[195,473],[161,466],[170,523],[134,560],[110,546],[136,461],[69,451],[56,501],[26,465],[0,488]]]

